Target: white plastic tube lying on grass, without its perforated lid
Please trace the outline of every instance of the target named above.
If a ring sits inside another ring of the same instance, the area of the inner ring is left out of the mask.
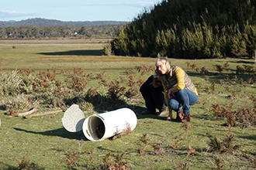
[[[102,141],[128,128],[133,131],[136,125],[137,116],[133,110],[121,108],[87,117],[82,130],[88,140]]]

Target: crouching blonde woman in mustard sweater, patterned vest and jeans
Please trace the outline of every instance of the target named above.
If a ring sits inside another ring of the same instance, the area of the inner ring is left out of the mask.
[[[161,76],[171,121],[171,110],[177,112],[176,121],[190,121],[190,105],[198,100],[198,93],[188,74],[179,66],[171,66],[167,57],[160,57],[155,63],[155,73]],[[184,116],[183,116],[184,114]],[[183,116],[183,117],[182,117]]]

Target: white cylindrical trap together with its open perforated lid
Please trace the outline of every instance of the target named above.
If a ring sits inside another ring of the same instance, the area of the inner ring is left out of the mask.
[[[67,131],[83,131],[90,141],[102,141],[124,130],[133,131],[137,125],[137,116],[129,108],[112,110],[102,114],[93,114],[85,119],[85,114],[77,104],[71,105],[62,118]]]

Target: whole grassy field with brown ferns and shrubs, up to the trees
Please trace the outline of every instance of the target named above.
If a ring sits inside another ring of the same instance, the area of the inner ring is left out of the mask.
[[[0,39],[0,169],[256,168],[254,59],[171,59],[199,91],[192,121],[181,124],[140,114],[146,108],[138,89],[156,59],[102,56],[108,40]],[[7,115],[65,110],[74,97],[85,117],[129,107],[137,127],[115,140],[88,141],[64,129],[64,112]]]

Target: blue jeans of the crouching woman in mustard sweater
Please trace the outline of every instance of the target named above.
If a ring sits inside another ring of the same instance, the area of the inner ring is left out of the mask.
[[[192,92],[192,90],[183,89],[178,90],[175,96],[168,100],[168,106],[171,110],[175,110],[177,113],[182,111],[184,114],[190,114],[189,105],[194,105],[199,97]]]

